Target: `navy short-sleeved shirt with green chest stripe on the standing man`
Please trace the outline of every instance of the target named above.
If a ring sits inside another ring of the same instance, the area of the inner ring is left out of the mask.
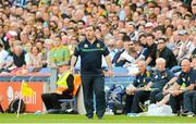
[[[101,64],[102,55],[109,55],[109,50],[100,39],[94,44],[87,39],[79,42],[75,48],[74,55],[81,55],[81,74],[99,75],[102,74]]]

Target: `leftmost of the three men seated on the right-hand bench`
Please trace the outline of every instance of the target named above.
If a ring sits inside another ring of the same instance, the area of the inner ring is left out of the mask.
[[[125,99],[125,113],[131,113],[132,102],[134,92],[137,90],[145,89],[146,85],[150,82],[151,74],[146,70],[146,62],[144,60],[137,63],[139,73],[136,75],[133,84],[126,87],[126,99]]]

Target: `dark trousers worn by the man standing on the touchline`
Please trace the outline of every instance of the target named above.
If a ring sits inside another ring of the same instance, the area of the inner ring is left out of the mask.
[[[94,92],[96,97],[96,113],[97,116],[103,116],[106,111],[105,98],[105,78],[102,75],[84,76],[82,75],[84,104],[86,115],[91,117],[94,115]]]

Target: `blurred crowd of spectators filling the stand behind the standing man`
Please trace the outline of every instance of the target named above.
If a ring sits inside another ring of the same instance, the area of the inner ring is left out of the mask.
[[[138,60],[154,67],[163,58],[172,69],[195,57],[195,15],[196,0],[0,0],[0,72],[69,63],[87,25],[114,67],[133,74]]]

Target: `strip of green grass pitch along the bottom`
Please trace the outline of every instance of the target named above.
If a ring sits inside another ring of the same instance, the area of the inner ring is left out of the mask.
[[[128,117],[125,115],[105,115],[102,120],[98,120],[97,116],[94,116],[93,120],[88,120],[85,115],[79,114],[21,114],[20,117],[16,117],[16,114],[0,114],[0,123],[12,123],[12,124],[64,124],[64,123],[81,123],[81,124],[158,124],[158,123],[167,123],[167,124],[188,124],[195,123],[196,117],[185,117],[185,116],[136,116]]]

